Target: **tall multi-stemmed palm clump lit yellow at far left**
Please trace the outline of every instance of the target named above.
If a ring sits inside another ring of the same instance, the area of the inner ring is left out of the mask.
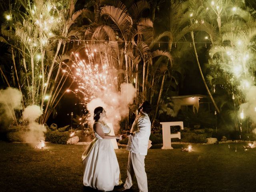
[[[43,110],[40,123],[44,123],[63,96],[60,91],[67,78],[61,70],[63,62],[69,59],[64,40],[81,36],[73,26],[84,10],[74,12],[74,1],[67,4],[50,1],[19,3],[10,6],[16,10],[12,11],[11,19],[2,24],[1,40],[11,47],[24,107],[40,105]],[[20,6],[24,12],[20,12]],[[22,64],[19,69],[16,60]],[[23,70],[20,74],[24,74],[25,81],[20,85],[19,72]]]

